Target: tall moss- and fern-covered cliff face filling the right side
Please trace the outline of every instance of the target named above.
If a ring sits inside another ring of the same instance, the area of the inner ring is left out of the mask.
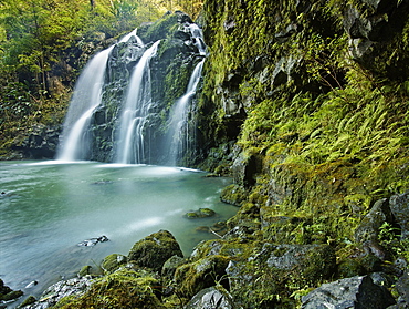
[[[408,258],[397,217],[370,212],[409,189],[408,12],[409,1],[206,1],[200,166],[234,178],[222,193],[241,206],[229,244],[329,246],[334,279]],[[269,275],[230,286],[244,308],[294,308],[328,280],[303,281],[303,269],[268,290],[263,278],[274,275],[264,262],[241,271],[256,269]],[[252,292],[243,297],[240,285]]]

